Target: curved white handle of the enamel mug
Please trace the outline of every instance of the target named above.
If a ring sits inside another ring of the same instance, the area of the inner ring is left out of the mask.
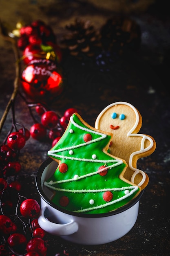
[[[43,207],[40,211],[40,216],[38,218],[38,223],[44,231],[56,235],[56,236],[68,236],[71,235],[78,230],[78,224],[75,221],[68,222],[66,224],[58,224],[49,221],[45,218],[44,212],[47,207]]]

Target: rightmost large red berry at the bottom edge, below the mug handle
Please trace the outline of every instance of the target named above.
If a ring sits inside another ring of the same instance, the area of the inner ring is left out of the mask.
[[[37,252],[40,256],[46,256],[47,247],[42,238],[32,238],[26,245],[27,252]]]

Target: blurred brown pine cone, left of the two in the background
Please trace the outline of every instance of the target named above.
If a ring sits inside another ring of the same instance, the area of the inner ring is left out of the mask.
[[[82,53],[93,56],[102,44],[100,33],[89,20],[75,19],[74,24],[66,25],[70,33],[61,40],[61,48],[68,49],[71,55],[80,57]]]

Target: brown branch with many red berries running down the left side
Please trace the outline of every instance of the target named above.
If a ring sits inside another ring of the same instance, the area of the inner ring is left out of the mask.
[[[12,110],[11,128],[0,145],[0,242],[2,242],[0,244],[0,255],[46,256],[48,247],[44,240],[46,232],[38,224],[40,205],[36,200],[26,199],[18,192],[21,189],[21,184],[17,181],[17,175],[21,169],[18,162],[20,149],[24,147],[30,135],[34,139],[41,140],[46,137],[47,130],[49,139],[53,140],[55,144],[62,136],[70,116],[77,110],[74,108],[67,109],[64,116],[59,118],[57,113],[49,110],[44,104],[28,102],[19,91],[22,58],[20,58],[18,42],[15,38],[4,33],[1,22],[0,35],[4,40],[12,43],[16,60],[13,93],[0,120],[1,132],[9,110]],[[35,55],[33,56],[35,57]],[[34,125],[30,131],[15,119],[15,97],[17,94],[26,103],[33,119]],[[35,108],[41,122],[36,120],[32,108]],[[19,129],[18,126],[21,128]],[[10,184],[7,183],[7,177],[9,176],[14,176],[14,181]],[[68,256],[69,254],[63,250],[61,254],[57,253],[56,255]]]

